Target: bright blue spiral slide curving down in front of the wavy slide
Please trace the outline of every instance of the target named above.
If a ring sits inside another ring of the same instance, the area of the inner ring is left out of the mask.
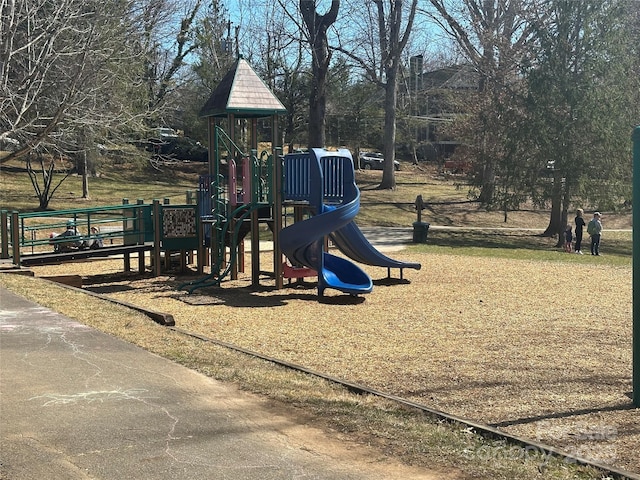
[[[330,166],[323,174],[320,159]],[[305,159],[306,161],[306,159]],[[308,156],[309,204],[317,212],[313,217],[296,222],[280,232],[280,248],[289,260],[318,272],[318,295],[333,288],[351,295],[373,290],[371,277],[359,266],[324,251],[324,237],[353,221],[360,208],[360,191],[355,183],[351,154],[313,149]],[[324,204],[324,192],[338,190],[342,201],[337,206]]]

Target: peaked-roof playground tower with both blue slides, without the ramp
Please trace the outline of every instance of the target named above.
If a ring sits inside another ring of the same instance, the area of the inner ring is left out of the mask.
[[[260,269],[260,223],[273,238],[273,278],[283,288],[285,278],[318,277],[318,294],[333,288],[351,295],[371,292],[371,278],[357,265],[328,253],[326,239],[347,257],[388,269],[419,269],[378,252],[353,219],[360,192],[348,150],[282,156],[278,146],[278,114],[285,111],[249,64],[239,58],[220,82],[201,115],[208,118],[209,175],[200,178],[198,205],[205,244],[211,248],[211,272],[181,288],[193,292],[236,278],[238,257],[247,234],[251,241],[251,280],[257,286]],[[258,156],[257,120],[271,118],[271,152]],[[219,123],[226,119],[227,133]],[[242,126],[249,152],[236,143]],[[293,210],[295,223],[284,225]],[[227,248],[230,252],[226,261]],[[283,255],[288,261],[283,260]]]

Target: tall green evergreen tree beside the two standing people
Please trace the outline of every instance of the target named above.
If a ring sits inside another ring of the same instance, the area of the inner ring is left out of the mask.
[[[634,83],[637,90],[628,12],[620,0],[552,0],[549,22],[536,32],[538,61],[527,72],[530,145],[540,170],[552,173],[537,186],[551,200],[545,235],[558,242],[572,203],[604,210],[630,198],[628,137],[638,107],[628,104]]]

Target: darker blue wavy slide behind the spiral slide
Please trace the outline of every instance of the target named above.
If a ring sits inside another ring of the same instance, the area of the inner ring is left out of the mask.
[[[394,260],[378,251],[364,236],[355,222],[350,222],[331,234],[331,239],[338,250],[347,257],[365,265],[387,268],[413,268],[420,270],[419,263],[401,262]]]

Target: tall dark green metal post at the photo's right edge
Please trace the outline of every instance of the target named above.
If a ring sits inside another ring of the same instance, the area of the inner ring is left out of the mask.
[[[640,407],[640,125],[633,131],[633,405]]]

